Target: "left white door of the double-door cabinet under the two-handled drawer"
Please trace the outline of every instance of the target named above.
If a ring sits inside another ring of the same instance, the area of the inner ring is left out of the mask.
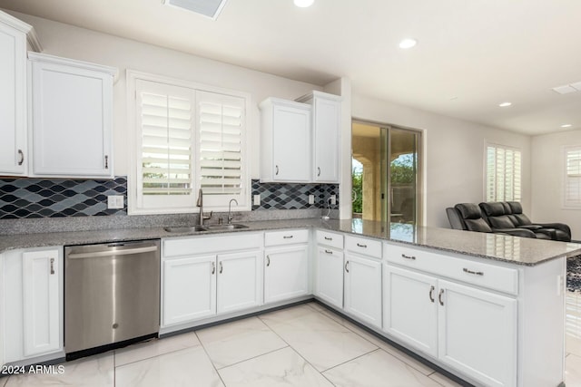
[[[438,356],[438,280],[383,265],[383,330]]]

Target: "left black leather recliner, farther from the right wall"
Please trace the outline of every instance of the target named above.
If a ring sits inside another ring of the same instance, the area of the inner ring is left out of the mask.
[[[481,208],[475,203],[459,203],[453,208],[446,208],[446,213],[450,226],[458,230],[500,233],[514,237],[537,237],[533,231],[526,228],[491,227],[482,217]]]

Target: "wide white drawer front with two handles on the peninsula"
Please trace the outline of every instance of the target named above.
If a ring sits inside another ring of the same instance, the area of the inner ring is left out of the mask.
[[[490,265],[483,262],[454,256],[444,256],[386,243],[385,259],[400,266],[408,266],[438,276],[446,276],[470,285],[478,285],[504,292],[518,294],[518,270]]]

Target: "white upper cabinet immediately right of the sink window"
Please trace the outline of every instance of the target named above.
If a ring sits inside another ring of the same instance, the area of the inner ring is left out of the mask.
[[[309,182],[310,105],[269,98],[261,108],[261,181]]]

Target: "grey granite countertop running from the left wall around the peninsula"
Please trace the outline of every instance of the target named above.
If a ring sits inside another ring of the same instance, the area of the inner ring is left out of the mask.
[[[303,218],[252,221],[242,224],[248,228],[229,231],[170,233],[165,231],[163,227],[143,227],[5,235],[0,236],[0,253],[28,247],[86,245],[162,237],[210,236],[233,232],[315,227],[524,266],[535,266],[558,257],[581,254],[581,245],[576,243],[458,231],[448,228],[414,227],[402,223],[392,223],[390,227],[385,227],[379,222],[361,219]]]

